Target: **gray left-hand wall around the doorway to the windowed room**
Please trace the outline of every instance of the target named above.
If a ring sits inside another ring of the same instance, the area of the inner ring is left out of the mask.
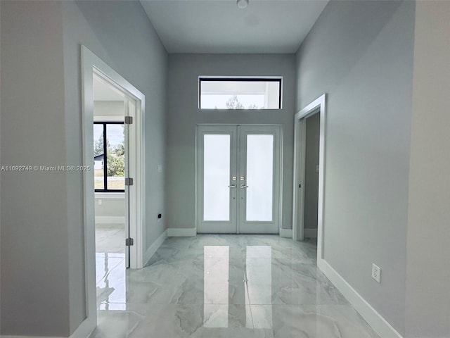
[[[1,162],[82,163],[80,44],[146,95],[150,246],[165,230],[167,53],[139,2],[2,2]],[[2,182],[1,334],[68,337],[86,316],[82,173]]]

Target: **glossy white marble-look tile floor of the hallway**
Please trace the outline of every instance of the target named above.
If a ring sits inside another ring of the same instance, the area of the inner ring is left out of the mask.
[[[271,235],[169,237],[141,270],[98,253],[91,337],[378,337],[315,262]]]

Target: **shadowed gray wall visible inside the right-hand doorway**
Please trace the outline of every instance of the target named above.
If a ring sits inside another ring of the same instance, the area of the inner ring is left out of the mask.
[[[319,207],[319,136],[320,113],[315,113],[306,119],[306,151],[304,166],[304,228],[317,229],[317,211]]]

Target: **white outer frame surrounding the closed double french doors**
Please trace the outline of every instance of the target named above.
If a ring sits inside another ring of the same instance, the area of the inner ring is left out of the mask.
[[[241,123],[198,123],[197,125],[195,125],[195,215],[194,215],[194,220],[195,220],[195,234],[198,233],[198,224],[200,221],[200,209],[199,209],[199,191],[200,191],[200,182],[199,182],[199,156],[198,156],[198,146],[199,146],[199,142],[200,140],[198,139],[199,136],[199,127],[237,127],[237,126],[252,126],[252,127],[278,127],[278,139],[279,139],[279,173],[278,175],[275,175],[274,173],[274,182],[275,180],[278,180],[278,184],[279,184],[279,189],[278,189],[278,234],[280,234],[280,229],[281,229],[281,222],[282,222],[282,212],[283,212],[283,125],[281,124],[274,124],[274,123],[269,123],[269,124],[241,124]],[[237,135],[237,146],[238,149],[240,147],[240,135]],[[275,150],[275,149],[274,149]],[[237,181],[238,183],[238,181]],[[275,199],[274,203],[276,203],[277,199]],[[238,215],[236,216],[238,217]],[[274,219],[275,220],[275,219]],[[237,225],[237,232],[236,233],[240,233],[239,231],[239,225]],[[276,234],[274,233],[274,234]]]

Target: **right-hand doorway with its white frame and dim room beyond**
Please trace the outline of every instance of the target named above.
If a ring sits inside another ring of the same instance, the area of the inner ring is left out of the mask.
[[[317,237],[323,257],[323,192],[325,177],[326,95],[294,118],[293,239]]]

